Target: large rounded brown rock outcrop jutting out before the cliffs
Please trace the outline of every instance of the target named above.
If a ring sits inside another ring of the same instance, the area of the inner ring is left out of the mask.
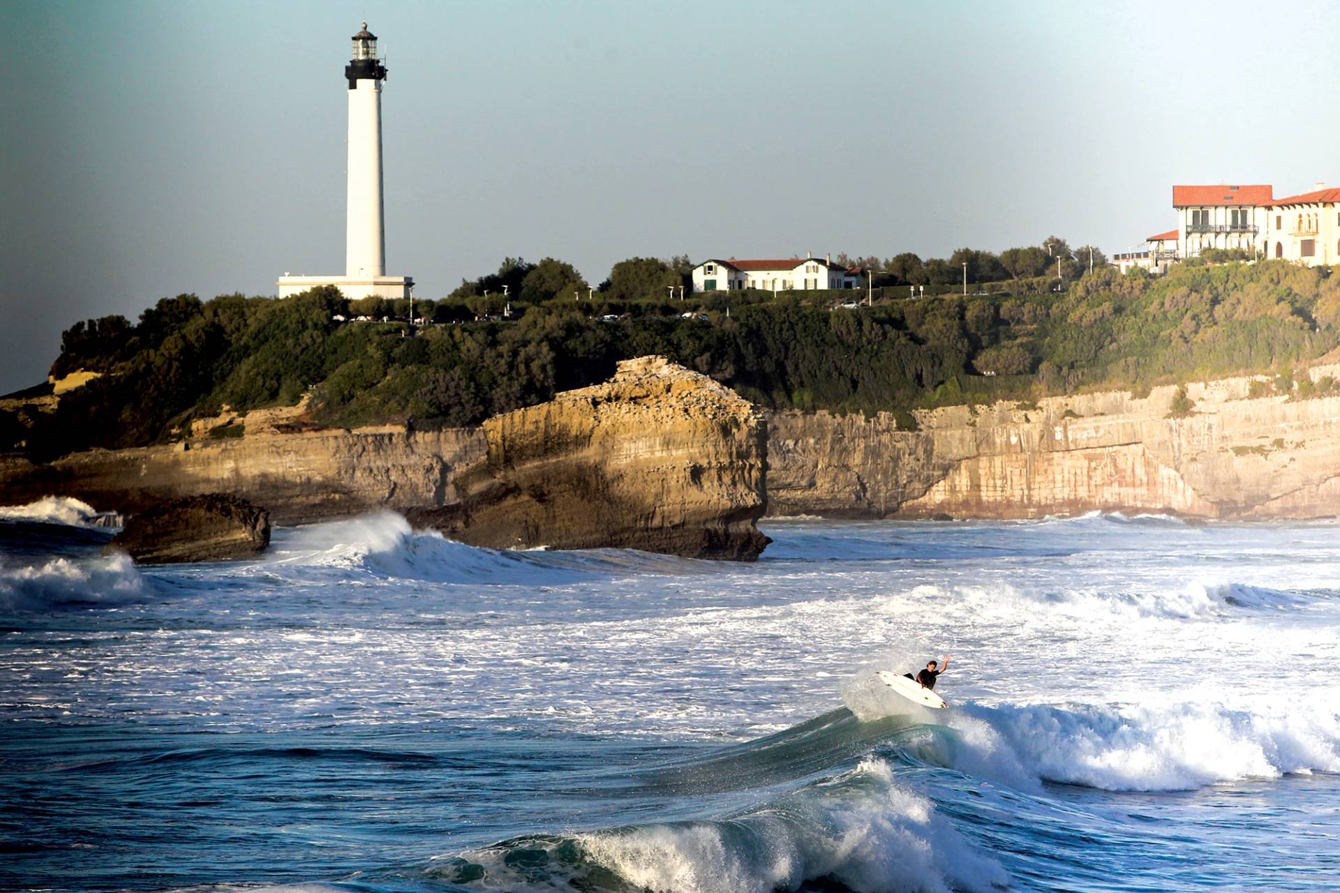
[[[603,384],[484,422],[460,502],[410,521],[481,546],[634,548],[750,561],[769,542],[766,423],[734,391],[647,356]]]

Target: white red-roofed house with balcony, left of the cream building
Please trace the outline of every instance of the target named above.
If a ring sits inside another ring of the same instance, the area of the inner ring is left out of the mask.
[[[1206,248],[1264,254],[1273,193],[1269,183],[1174,186],[1178,256],[1195,257]]]

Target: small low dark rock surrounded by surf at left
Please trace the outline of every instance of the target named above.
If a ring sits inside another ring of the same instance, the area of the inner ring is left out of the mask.
[[[210,493],[131,515],[106,548],[127,553],[135,564],[181,564],[245,558],[268,545],[268,511]]]

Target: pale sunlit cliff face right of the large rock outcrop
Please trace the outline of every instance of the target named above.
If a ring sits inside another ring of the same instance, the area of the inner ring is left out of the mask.
[[[1319,366],[1312,378],[1340,375]],[[1340,398],[1248,396],[1252,379],[918,415],[776,414],[772,514],[1036,518],[1130,510],[1210,518],[1340,514]]]

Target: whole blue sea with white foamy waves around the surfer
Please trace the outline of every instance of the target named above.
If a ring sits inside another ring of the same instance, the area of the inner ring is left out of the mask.
[[[776,519],[752,565],[379,514],[135,568],[0,509],[0,888],[1331,890],[1333,523]],[[925,711],[872,683],[953,655]]]

